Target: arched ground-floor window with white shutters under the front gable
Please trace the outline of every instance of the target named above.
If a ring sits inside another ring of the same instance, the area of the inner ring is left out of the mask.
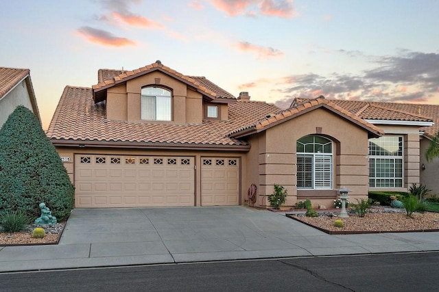
[[[332,189],[333,142],[310,135],[297,140],[297,188]]]

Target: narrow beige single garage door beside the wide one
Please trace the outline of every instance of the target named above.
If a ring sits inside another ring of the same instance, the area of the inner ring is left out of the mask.
[[[202,157],[201,205],[239,204],[239,159]]]

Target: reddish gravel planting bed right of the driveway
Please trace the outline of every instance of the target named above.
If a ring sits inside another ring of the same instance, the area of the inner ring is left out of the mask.
[[[439,213],[407,213],[401,210],[372,210],[365,217],[358,217],[350,213],[347,218],[337,217],[338,213],[320,213],[319,217],[306,217],[303,214],[287,214],[299,222],[329,234],[355,234],[355,233],[397,233],[397,232],[424,232],[439,231]],[[344,227],[335,227],[334,221],[340,219]]]

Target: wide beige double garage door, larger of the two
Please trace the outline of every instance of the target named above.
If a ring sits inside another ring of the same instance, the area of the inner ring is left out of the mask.
[[[75,155],[75,206],[193,206],[193,157]]]

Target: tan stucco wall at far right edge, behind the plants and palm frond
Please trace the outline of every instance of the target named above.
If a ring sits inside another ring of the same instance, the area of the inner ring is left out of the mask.
[[[439,195],[439,158],[434,159],[431,162],[427,162],[425,159],[425,151],[430,146],[430,140],[422,137],[420,140],[420,163],[419,165],[425,166],[425,170],[420,170],[419,183],[427,186],[431,189],[430,195]]]

